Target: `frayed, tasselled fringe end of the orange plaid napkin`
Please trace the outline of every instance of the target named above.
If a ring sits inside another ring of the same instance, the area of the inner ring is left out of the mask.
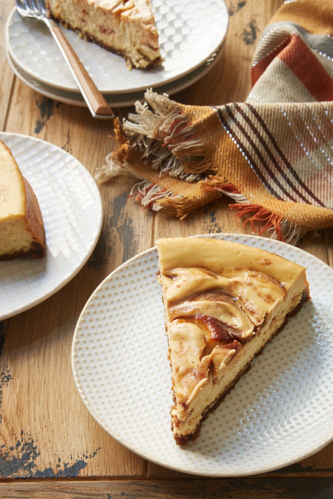
[[[145,102],[136,103],[136,113],[122,123],[115,120],[115,147],[106,164],[95,176],[105,182],[119,175],[130,175],[138,182],[130,196],[143,207],[167,212],[180,220],[189,213],[227,195],[236,204],[229,205],[236,218],[246,217],[254,233],[296,244],[306,232],[261,205],[250,203],[228,179],[210,177],[213,165],[205,155],[205,145],[196,136],[184,107],[166,94],[145,92]],[[139,161],[137,159],[140,158]],[[133,161],[134,159],[134,161]],[[148,174],[150,170],[150,175]],[[162,176],[183,181],[188,188],[173,189]],[[150,178],[149,178],[150,177]],[[203,196],[195,195],[200,188]]]

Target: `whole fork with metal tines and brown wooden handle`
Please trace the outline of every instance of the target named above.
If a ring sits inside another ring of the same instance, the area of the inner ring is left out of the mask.
[[[80,59],[74,52],[70,43],[61,31],[60,27],[48,17],[44,0],[16,0],[17,12],[22,17],[33,17],[43,21],[52,33],[58,47],[61,50],[81,94],[94,118],[112,119],[114,114],[104,99],[95,83],[90,78]]]

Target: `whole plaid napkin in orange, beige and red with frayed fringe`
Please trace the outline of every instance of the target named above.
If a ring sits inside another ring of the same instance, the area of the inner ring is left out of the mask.
[[[253,231],[296,244],[333,226],[333,3],[287,0],[254,55],[246,102],[188,106],[148,90],[115,121],[97,178],[184,219],[221,196]]]

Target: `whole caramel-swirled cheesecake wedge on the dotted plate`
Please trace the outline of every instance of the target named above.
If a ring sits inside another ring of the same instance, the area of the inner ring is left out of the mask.
[[[207,238],[160,239],[162,286],[180,445],[267,342],[308,300],[306,269],[258,248]]]

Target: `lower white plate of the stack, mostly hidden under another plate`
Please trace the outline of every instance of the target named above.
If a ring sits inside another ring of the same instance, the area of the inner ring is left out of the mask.
[[[186,74],[182,78],[178,80],[167,83],[166,85],[162,85],[158,88],[160,93],[167,93],[168,95],[172,95],[175,92],[180,92],[184,88],[187,88],[189,85],[192,85],[200,78],[202,78],[218,61],[219,56],[221,54],[222,49],[219,52],[213,54],[207,61],[205,61],[201,66],[192,71],[191,73]],[[77,92],[69,92],[68,90],[62,90],[61,88],[51,87],[42,83],[39,80],[34,79],[29,73],[26,73],[21,69],[15,61],[13,61],[10,57],[8,49],[6,49],[6,55],[9,62],[9,65],[15,75],[22,80],[26,85],[30,88],[39,92],[41,95],[48,97],[50,99],[55,99],[59,102],[63,102],[65,104],[73,104],[76,106],[86,107],[87,104],[84,101],[82,95]],[[108,94],[105,95],[108,104],[112,107],[122,107],[122,106],[132,106],[136,101],[144,101],[144,91],[139,92],[129,92],[129,93],[121,93],[121,94]]]

